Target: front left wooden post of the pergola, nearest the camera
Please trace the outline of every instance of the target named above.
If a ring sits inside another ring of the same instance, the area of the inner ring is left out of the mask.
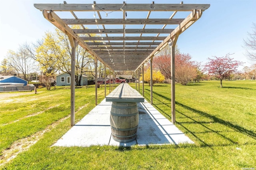
[[[75,64],[76,64],[76,45],[77,41],[68,36],[71,44],[71,82],[70,82],[70,125],[75,125]]]

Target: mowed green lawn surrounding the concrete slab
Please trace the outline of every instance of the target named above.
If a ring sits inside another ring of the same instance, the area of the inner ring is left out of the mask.
[[[186,86],[176,84],[176,126],[195,144],[127,148],[51,147],[70,128],[70,119],[66,119],[46,132],[27,151],[18,154],[14,160],[0,168],[256,168],[256,81],[224,81],[224,88],[220,88],[219,84],[219,81],[202,81]],[[135,83],[130,85],[135,88]],[[100,102],[104,99],[104,89],[98,90]],[[150,87],[147,84],[144,94],[150,101]],[[154,107],[171,120],[170,97],[169,84],[153,86]],[[76,89],[76,111],[86,105],[77,111],[76,122],[94,107],[94,99],[93,87]],[[70,114],[70,89],[67,88],[50,91],[39,89],[36,95],[23,95],[8,100],[14,103],[0,105],[1,153],[15,140],[30,136]],[[12,112],[10,105],[14,105],[16,110]],[[28,117],[38,112],[42,113]],[[18,119],[20,121],[16,121]]]

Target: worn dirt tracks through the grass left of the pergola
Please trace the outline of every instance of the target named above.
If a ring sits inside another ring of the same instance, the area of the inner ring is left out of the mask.
[[[84,107],[86,107],[88,104],[80,107],[76,113],[78,111],[80,111],[81,109],[83,109]],[[55,106],[56,107],[56,106]],[[53,108],[53,107],[52,107]],[[50,109],[50,108],[48,108]],[[35,113],[35,114],[40,114],[40,113]],[[27,117],[32,116],[32,115],[28,115]],[[24,117],[25,118],[25,117]],[[22,118],[22,119],[24,119]],[[20,152],[23,152],[25,150],[28,150],[30,148],[30,146],[32,146],[33,144],[35,144],[38,140],[40,140],[40,138],[42,138],[42,136],[44,135],[45,132],[50,131],[52,128],[56,127],[59,123],[63,122],[64,120],[70,118],[69,116],[66,116],[58,121],[56,121],[55,123],[48,125],[44,130],[40,131],[40,132],[36,132],[35,134],[28,136],[26,138],[22,138],[19,140],[16,140],[12,146],[10,146],[8,149],[3,150],[2,152],[2,156],[0,156],[0,166],[3,166],[4,164],[6,164],[7,162],[9,162],[10,160],[14,159]]]

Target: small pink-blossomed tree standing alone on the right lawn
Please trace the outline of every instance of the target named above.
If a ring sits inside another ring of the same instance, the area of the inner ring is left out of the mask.
[[[231,74],[237,73],[238,66],[243,64],[241,61],[230,58],[230,55],[232,54],[228,53],[225,57],[213,56],[214,58],[208,58],[210,61],[204,65],[204,71],[220,79],[220,87],[222,87],[222,80],[227,79]]]

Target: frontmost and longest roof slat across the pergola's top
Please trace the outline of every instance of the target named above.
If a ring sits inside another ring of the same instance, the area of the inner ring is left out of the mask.
[[[34,4],[39,10],[54,11],[115,11],[119,10],[123,4]],[[192,11],[194,9],[208,9],[210,4],[126,4],[126,11]],[[120,10],[121,11],[121,10]]]

